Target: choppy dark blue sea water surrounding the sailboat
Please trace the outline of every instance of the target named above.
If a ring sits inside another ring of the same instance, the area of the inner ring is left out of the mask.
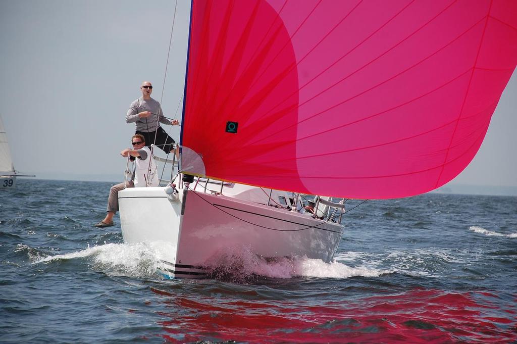
[[[243,246],[210,279],[167,280],[118,216],[93,227],[112,184],[0,192],[1,343],[517,341],[515,197],[368,201],[343,216],[331,263]]]

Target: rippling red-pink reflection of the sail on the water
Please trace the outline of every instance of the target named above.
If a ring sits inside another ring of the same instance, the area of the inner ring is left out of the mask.
[[[228,300],[176,297],[160,322],[169,342],[408,342],[510,343],[517,340],[515,307],[501,309],[497,295],[413,290],[361,300]]]

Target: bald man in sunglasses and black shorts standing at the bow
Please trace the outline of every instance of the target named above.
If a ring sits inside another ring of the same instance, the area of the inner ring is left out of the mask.
[[[140,91],[142,92],[142,97],[131,103],[126,114],[126,123],[135,122],[135,134],[141,134],[148,146],[155,143],[163,152],[169,154],[175,141],[158,125],[158,122],[167,125],[179,125],[179,123],[177,119],[170,121],[163,116],[160,102],[151,98],[153,85],[149,81],[142,83]]]

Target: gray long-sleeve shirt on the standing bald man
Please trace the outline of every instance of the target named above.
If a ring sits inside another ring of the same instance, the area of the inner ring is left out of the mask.
[[[143,111],[149,111],[152,115],[146,118],[140,118],[138,114]],[[157,129],[157,121],[163,124],[171,124],[169,119],[163,117],[160,102],[153,98],[145,100],[143,97],[140,97],[136,99],[131,103],[128,113],[126,114],[126,123],[135,122],[137,131],[153,132]]]

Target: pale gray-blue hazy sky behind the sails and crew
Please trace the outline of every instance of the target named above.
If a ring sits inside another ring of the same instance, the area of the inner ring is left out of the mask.
[[[51,179],[123,178],[119,152],[134,133],[125,116],[144,80],[165,115],[181,118],[190,0],[178,0],[176,14],[175,5],[0,0],[0,115],[16,170]],[[516,109],[514,72],[478,154],[449,185],[517,187]],[[179,127],[163,127],[179,140]]]

